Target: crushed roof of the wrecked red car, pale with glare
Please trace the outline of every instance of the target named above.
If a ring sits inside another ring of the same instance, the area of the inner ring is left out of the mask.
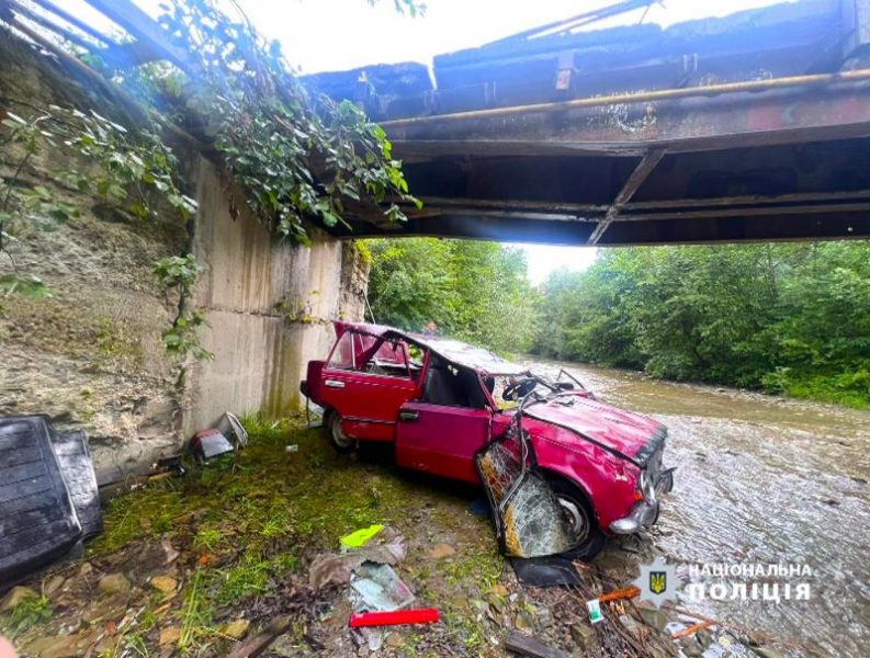
[[[470,345],[452,338],[440,336],[428,336],[403,331],[395,327],[384,325],[368,325],[365,322],[335,322],[336,333],[341,336],[347,329],[354,329],[364,333],[371,333],[384,338],[402,338],[432,350],[436,354],[443,356],[451,363],[463,367],[470,367],[487,375],[521,375],[529,372],[529,368],[502,359],[495,352],[485,348]]]

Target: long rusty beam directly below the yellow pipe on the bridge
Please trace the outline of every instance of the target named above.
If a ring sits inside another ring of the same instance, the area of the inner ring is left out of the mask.
[[[640,97],[639,97],[640,98]],[[870,82],[387,122],[409,161],[449,155],[633,155],[844,139],[870,133]]]

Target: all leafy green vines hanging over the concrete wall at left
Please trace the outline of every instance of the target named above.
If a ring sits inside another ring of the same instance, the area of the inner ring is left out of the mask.
[[[426,9],[417,0],[394,4],[411,16]],[[280,237],[308,245],[305,222],[350,228],[348,215],[353,211],[406,220],[399,204],[419,207],[420,202],[409,194],[384,129],[353,103],[306,90],[278,43],[263,39],[234,0],[227,7],[237,10],[238,20],[223,13],[214,0],[161,5],[160,26],[193,63],[195,70],[188,71],[192,76],[166,63],[115,71],[93,54],[82,58],[150,105],[149,115],[158,121],[204,123],[227,170],[246,189],[255,216]],[[57,172],[82,194],[99,196],[138,219],[156,218],[160,209],[154,200],[161,198],[182,222],[190,219],[196,203],[176,183],[178,162],[160,137],[161,128],[139,126],[132,135],[95,112],[54,105],[30,118],[5,116],[0,147],[10,146],[21,157],[0,186],[0,256],[12,270],[0,271],[0,295],[50,295],[39,277],[19,270],[9,246],[23,225],[50,230],[78,214],[48,186],[23,180],[31,158],[43,148],[65,149],[97,164],[97,175],[75,169]],[[197,329],[206,325],[204,313],[188,304],[201,268],[191,254],[183,254],[157,261],[154,271],[165,288],[180,297],[179,314],[163,332],[165,348],[181,356],[211,358],[197,339]]]

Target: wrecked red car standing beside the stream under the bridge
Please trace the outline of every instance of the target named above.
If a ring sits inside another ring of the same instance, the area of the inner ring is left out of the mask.
[[[475,455],[520,411],[536,466],[574,535],[575,555],[658,518],[673,487],[662,465],[667,429],[455,340],[377,325],[335,322],[326,361],[308,363],[303,395],[325,410],[332,445],[395,445],[399,466],[481,484]],[[519,404],[521,400],[521,405]]]

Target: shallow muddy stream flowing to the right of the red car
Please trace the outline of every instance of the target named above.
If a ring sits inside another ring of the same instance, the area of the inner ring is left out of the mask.
[[[669,564],[809,565],[810,599],[682,604],[803,649],[870,656],[870,412],[730,388],[654,382],[637,373],[564,367],[600,399],[668,426],[675,490],[649,533]],[[719,578],[708,578],[707,587]],[[760,582],[767,578],[733,579]],[[792,585],[793,587],[793,585]],[[709,590],[708,590],[709,591]],[[782,594],[782,591],[780,591]]]

